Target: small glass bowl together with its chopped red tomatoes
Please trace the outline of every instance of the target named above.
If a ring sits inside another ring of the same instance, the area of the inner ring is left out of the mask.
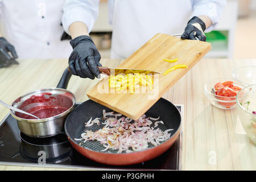
[[[220,109],[233,109],[236,107],[236,95],[243,86],[241,82],[233,78],[217,78],[208,81],[204,90],[214,106]]]

